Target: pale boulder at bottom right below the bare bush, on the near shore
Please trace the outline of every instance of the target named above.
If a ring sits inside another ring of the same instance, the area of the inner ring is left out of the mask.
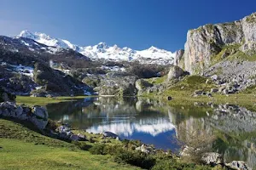
[[[207,165],[218,165],[224,163],[223,156],[215,152],[209,152],[202,156],[201,160]]]

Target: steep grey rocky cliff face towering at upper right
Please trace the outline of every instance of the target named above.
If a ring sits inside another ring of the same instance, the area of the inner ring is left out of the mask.
[[[236,50],[242,53],[254,53],[256,49],[256,13],[242,20],[224,24],[209,24],[189,30],[183,57],[179,57],[176,64],[191,74],[199,74],[204,68],[212,65],[212,58],[229,45],[236,45]],[[235,52],[233,51],[233,53]]]

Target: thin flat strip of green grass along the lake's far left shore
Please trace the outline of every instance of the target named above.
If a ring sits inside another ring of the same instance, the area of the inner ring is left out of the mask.
[[[52,103],[60,103],[65,101],[71,101],[73,99],[84,99],[88,96],[61,96],[55,98],[44,98],[44,97],[29,97],[29,96],[17,96],[16,103],[18,105],[47,105]]]

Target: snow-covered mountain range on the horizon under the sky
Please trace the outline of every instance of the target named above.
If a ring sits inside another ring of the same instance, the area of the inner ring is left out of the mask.
[[[49,37],[40,32],[21,31],[18,37],[30,38],[36,42],[56,48],[71,48],[92,60],[107,59],[114,61],[138,60],[145,64],[168,65],[173,63],[176,53],[164,49],[151,47],[144,50],[134,50],[131,48],[119,48],[117,45],[108,46],[105,42],[100,42],[95,46],[79,47],[73,43],[60,38]]]

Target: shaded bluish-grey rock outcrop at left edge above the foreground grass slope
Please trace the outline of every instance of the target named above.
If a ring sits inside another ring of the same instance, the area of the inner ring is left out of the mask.
[[[15,105],[12,102],[0,104],[0,116],[13,117],[21,121],[32,122],[38,129],[43,130],[48,123],[48,112],[44,107],[33,108]]]

